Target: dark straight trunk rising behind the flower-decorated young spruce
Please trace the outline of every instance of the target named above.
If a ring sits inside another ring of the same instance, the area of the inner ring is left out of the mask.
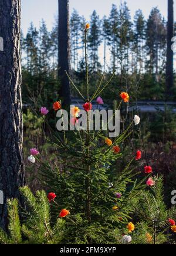
[[[59,77],[60,96],[65,105],[70,104],[70,84],[65,71],[70,70],[69,0],[59,0]]]

